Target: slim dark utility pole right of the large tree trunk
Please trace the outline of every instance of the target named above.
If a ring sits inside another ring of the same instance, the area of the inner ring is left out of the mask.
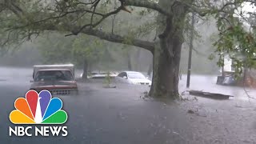
[[[192,50],[193,50],[193,41],[194,41],[194,19],[195,14],[192,13],[192,22],[191,22],[191,31],[190,31],[190,52],[189,52],[189,62],[187,67],[187,77],[186,77],[186,88],[190,87],[190,74],[191,74],[191,59],[192,59]]]

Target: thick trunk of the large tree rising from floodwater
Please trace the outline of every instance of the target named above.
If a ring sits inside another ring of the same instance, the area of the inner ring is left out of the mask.
[[[159,1],[160,5],[171,7],[170,0]],[[175,6],[175,15],[166,18],[158,15],[159,38],[153,53],[153,83],[150,95],[154,97],[179,98],[178,75],[183,43],[185,8]]]

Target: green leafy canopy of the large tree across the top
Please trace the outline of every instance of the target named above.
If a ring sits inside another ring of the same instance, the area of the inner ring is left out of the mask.
[[[217,51],[219,53],[229,52],[230,50],[236,50],[234,47],[240,45],[239,49],[248,54],[247,59],[250,59],[254,57],[254,48],[250,48],[253,44],[248,45],[248,41],[254,42],[252,41],[254,24],[251,20],[255,19],[255,14],[254,12],[242,12],[241,7],[244,2],[248,2],[247,4],[252,6],[255,5],[254,1],[248,0],[174,0],[171,2],[171,6],[185,6],[188,13],[197,13],[198,17],[214,16],[220,32],[218,41],[214,43],[218,47]],[[137,39],[141,35],[134,34],[134,31],[151,32],[156,29],[155,21],[144,23],[148,26],[137,26],[136,29],[129,30],[126,34],[123,34],[124,30],[122,30],[121,34],[123,36],[114,30],[110,30],[110,28],[104,29],[107,31],[102,31],[102,25],[104,25],[105,21],[113,20],[112,15],[118,14],[123,10],[129,13],[134,12],[134,7],[141,7],[138,10],[138,14],[142,16],[147,14],[153,18],[156,15],[155,12],[166,16],[175,14],[175,12],[162,8],[159,2],[154,0],[2,0],[0,6],[2,46],[33,38],[33,36],[37,36],[45,30],[58,30],[70,32],[70,34],[74,35],[79,33],[94,35],[110,42],[126,43],[146,50],[153,50],[154,42]],[[245,22],[250,26],[250,30],[247,30],[248,28],[244,26]],[[118,24],[123,29],[122,23],[113,22],[114,24]],[[150,26],[152,29],[148,29]],[[246,63],[250,66],[250,62]]]

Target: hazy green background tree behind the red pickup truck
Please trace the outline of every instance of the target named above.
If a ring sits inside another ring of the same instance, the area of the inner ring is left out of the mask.
[[[91,66],[111,60],[107,49],[103,48],[102,40],[86,35],[62,37],[61,34],[46,34],[39,38],[37,48],[45,64],[72,62],[82,66],[84,79]]]

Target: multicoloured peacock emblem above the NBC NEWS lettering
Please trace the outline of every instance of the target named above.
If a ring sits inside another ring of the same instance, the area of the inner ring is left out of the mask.
[[[17,98],[10,113],[10,122],[14,124],[63,124],[67,120],[62,109],[62,100],[52,98],[48,90],[39,94],[34,90],[26,93],[26,98]]]

